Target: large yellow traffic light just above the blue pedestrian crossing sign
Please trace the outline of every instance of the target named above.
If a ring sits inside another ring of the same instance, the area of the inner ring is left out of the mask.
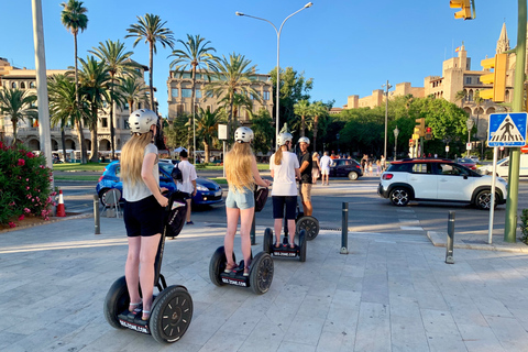
[[[497,54],[495,57],[485,58],[481,62],[484,68],[494,68],[493,73],[481,76],[481,82],[493,85],[492,89],[480,90],[480,97],[495,102],[504,102],[506,94],[506,68],[508,65],[507,54]]]

